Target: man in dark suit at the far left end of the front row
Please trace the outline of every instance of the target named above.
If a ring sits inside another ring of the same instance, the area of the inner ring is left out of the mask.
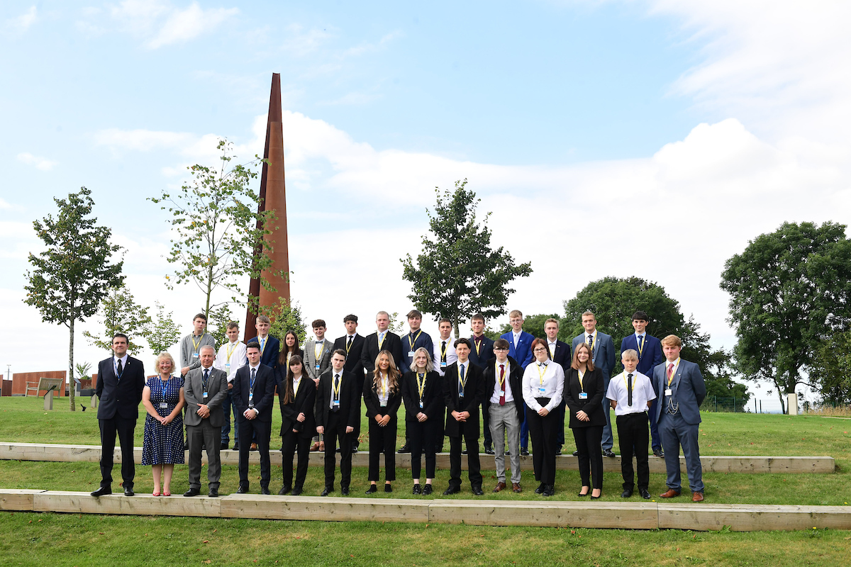
[[[127,355],[127,335],[112,337],[113,356],[98,364],[98,385],[95,393],[100,400],[100,488],[92,496],[112,493],[112,464],[115,437],[121,445],[121,477],[124,496],[133,496],[136,468],[133,458],[133,431],[139,418],[139,402],[145,389],[145,367],[140,360]]]

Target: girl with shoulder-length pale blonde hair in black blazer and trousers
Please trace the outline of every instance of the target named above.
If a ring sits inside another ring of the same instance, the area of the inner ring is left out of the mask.
[[[434,370],[431,353],[414,351],[414,367],[402,378],[405,431],[411,448],[413,494],[429,495],[437,468],[437,443],[443,436],[443,382]],[[420,485],[420,456],[426,451],[426,486]]]

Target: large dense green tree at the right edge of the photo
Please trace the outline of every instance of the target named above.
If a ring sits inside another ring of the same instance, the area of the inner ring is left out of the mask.
[[[845,225],[784,223],[729,258],[721,288],[739,341],[735,358],[746,377],[770,380],[784,394],[817,364],[822,341],[851,323],[851,241]]]

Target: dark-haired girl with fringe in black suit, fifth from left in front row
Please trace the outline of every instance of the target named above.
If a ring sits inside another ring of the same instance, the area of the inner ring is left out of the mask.
[[[283,352],[282,352],[283,354]],[[287,371],[283,371],[287,368]],[[311,439],[317,432],[313,405],[317,397],[317,387],[307,377],[301,357],[293,354],[289,357],[289,366],[275,369],[277,392],[281,406],[281,466],[283,468],[283,486],[280,495],[301,494],[307,476],[307,462],[311,454]],[[299,464],[293,485],[293,455],[298,447]]]

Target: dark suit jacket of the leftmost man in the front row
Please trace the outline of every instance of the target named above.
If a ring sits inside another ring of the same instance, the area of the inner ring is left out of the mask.
[[[127,357],[121,379],[115,375],[114,356],[98,363],[98,385],[95,394],[100,400],[98,419],[112,419],[116,414],[125,419],[139,418],[139,403],[145,389],[145,366],[141,360]]]

